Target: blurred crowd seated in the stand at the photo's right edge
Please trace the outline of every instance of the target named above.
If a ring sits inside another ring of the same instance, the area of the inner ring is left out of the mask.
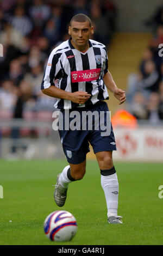
[[[163,120],[163,50],[159,47],[163,44],[163,5],[145,25],[151,28],[152,39],[142,53],[138,74],[128,77],[127,109],[138,120],[159,124]]]

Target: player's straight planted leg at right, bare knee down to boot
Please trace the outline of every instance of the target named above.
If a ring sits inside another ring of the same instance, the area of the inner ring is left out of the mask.
[[[120,216],[117,216],[119,186],[116,170],[112,162],[112,151],[101,151],[95,155],[101,170],[101,185],[108,208],[108,222],[112,224],[122,223]]]

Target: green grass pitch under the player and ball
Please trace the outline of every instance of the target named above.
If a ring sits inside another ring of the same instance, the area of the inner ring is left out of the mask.
[[[162,245],[161,163],[115,163],[120,184],[118,215],[123,225],[106,220],[106,203],[96,161],[87,161],[83,180],[70,184],[62,208],[55,205],[57,174],[67,165],[55,161],[0,161],[0,245]],[[53,242],[43,222],[55,210],[70,211],[78,231],[72,241]],[[12,222],[9,222],[12,221]]]

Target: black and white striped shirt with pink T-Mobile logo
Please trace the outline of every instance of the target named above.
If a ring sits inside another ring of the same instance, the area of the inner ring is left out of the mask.
[[[41,89],[57,86],[66,92],[87,92],[91,94],[85,104],[56,98],[54,107],[71,109],[94,105],[109,99],[103,76],[108,72],[108,56],[105,45],[89,40],[89,48],[80,52],[71,44],[71,38],[62,42],[51,52]]]

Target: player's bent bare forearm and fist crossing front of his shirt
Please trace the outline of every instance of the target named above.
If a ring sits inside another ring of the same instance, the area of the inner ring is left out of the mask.
[[[42,93],[51,96],[51,97],[57,97],[59,99],[64,99],[64,100],[71,100],[74,103],[78,104],[84,104],[85,101],[87,101],[91,94],[88,94],[87,92],[66,92],[65,90],[62,90],[58,87],[55,86],[50,86],[49,88],[42,89]]]

